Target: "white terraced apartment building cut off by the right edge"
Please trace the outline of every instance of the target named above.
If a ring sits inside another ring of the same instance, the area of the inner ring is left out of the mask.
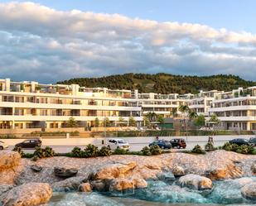
[[[217,95],[209,108],[227,130],[256,130],[256,87],[234,89]]]

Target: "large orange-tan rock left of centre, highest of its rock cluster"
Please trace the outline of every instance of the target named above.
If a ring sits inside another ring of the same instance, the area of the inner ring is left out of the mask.
[[[135,161],[118,162],[114,164],[103,165],[94,174],[94,180],[115,179],[124,177],[129,171],[136,166]]]

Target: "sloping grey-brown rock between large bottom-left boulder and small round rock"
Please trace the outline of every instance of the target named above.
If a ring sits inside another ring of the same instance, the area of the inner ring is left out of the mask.
[[[82,184],[86,181],[87,181],[87,178],[84,176],[70,177],[68,179],[56,182],[56,183],[52,184],[51,186],[54,191],[69,192],[69,191],[77,190],[79,188],[80,184]]]

